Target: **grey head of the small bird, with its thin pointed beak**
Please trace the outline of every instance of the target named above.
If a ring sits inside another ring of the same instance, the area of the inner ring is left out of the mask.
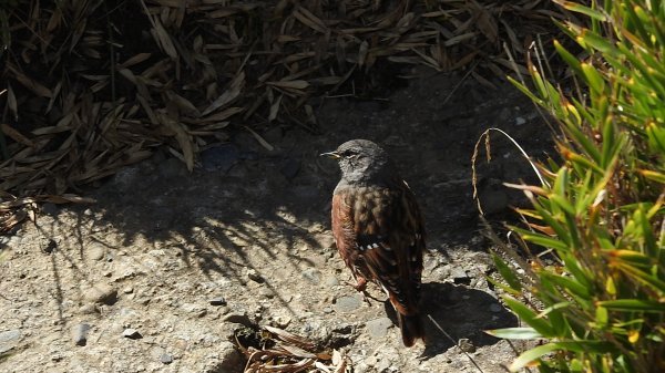
[[[368,139],[351,139],[321,155],[337,159],[341,179],[347,183],[390,182],[396,175],[388,153]]]

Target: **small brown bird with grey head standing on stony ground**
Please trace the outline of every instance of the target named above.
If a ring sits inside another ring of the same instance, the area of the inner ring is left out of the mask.
[[[365,292],[375,281],[388,293],[406,346],[423,338],[418,312],[424,251],[420,207],[388,154],[367,139],[346,142],[335,158],[341,179],[332,194],[337,249]]]

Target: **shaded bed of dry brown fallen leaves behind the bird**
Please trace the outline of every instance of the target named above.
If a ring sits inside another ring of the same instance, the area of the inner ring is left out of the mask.
[[[231,131],[259,141],[274,123],[316,131],[308,99],[361,94],[388,62],[468,70],[492,86],[513,68],[507,51],[524,55],[562,18],[541,0],[0,6],[4,204],[75,193],[157,146],[193,169]]]

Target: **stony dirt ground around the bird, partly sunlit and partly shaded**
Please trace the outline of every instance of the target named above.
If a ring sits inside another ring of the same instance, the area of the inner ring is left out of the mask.
[[[267,324],[344,351],[354,372],[504,372],[514,351],[483,330],[518,320],[485,279],[471,155],[500,127],[542,158],[550,132],[498,84],[422,73],[380,100],[321,99],[323,134],[275,126],[262,134],[268,151],[243,132],[193,174],[162,153],[88,190],[96,204],[45,205],[37,225],[0,238],[0,371],[242,372],[234,331]],[[386,304],[348,284],[329,224],[339,174],[317,155],[351,138],[382,144],[419,198],[423,313],[452,341],[427,319],[428,345],[403,348]],[[499,224],[519,203],[501,183],[530,168],[499,136],[492,154],[480,190]]]

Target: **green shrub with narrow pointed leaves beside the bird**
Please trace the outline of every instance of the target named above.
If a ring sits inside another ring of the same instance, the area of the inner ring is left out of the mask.
[[[583,53],[554,42],[576,94],[535,65],[533,89],[513,82],[561,123],[563,160],[541,166],[542,186],[514,186],[533,208],[511,227],[556,260],[515,271],[495,256],[529,328],[490,333],[544,339],[512,371],[665,372],[665,2],[557,2],[587,20],[560,24]]]

